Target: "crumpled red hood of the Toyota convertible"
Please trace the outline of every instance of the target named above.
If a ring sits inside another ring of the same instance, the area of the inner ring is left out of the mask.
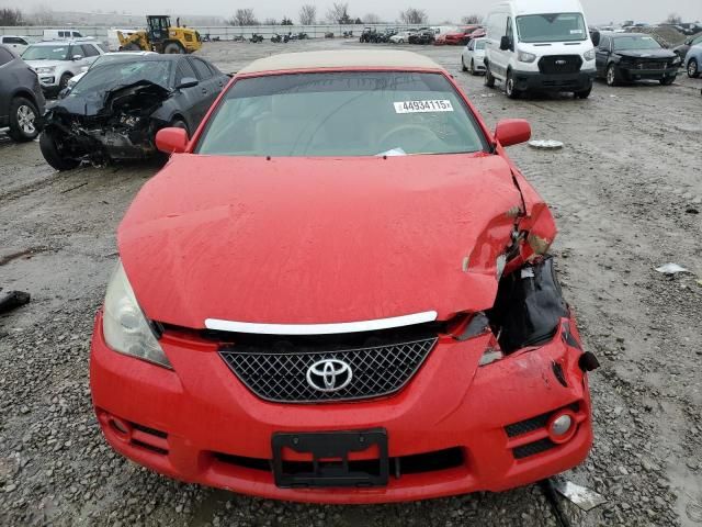
[[[132,203],[118,249],[145,314],[168,324],[445,319],[492,305],[521,203],[487,154],[176,155]]]

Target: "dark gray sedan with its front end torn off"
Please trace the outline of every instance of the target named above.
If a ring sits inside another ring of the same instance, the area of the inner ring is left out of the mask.
[[[156,156],[156,133],[192,134],[228,80],[193,56],[125,55],[97,66],[46,112],[42,154],[56,170]]]

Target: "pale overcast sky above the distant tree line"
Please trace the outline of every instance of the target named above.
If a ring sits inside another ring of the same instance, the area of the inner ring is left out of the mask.
[[[347,1],[347,0],[344,0]],[[348,0],[349,14],[363,18],[375,13],[389,21],[397,19],[401,9],[415,7],[424,9],[432,22],[460,20],[465,14],[485,14],[492,3],[489,0]],[[669,13],[680,14],[684,21],[702,19],[702,0],[581,0],[589,22],[607,23],[623,20],[657,23]],[[287,15],[297,19],[299,5],[313,3],[324,16],[331,0],[39,0],[37,2],[0,0],[0,7],[12,5],[32,10],[27,5],[43,3],[55,11],[104,10],[127,12],[131,14],[202,14],[229,16],[237,8],[253,8],[259,19],[281,19]]]

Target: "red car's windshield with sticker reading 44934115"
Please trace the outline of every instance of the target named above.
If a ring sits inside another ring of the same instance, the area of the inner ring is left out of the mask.
[[[207,123],[199,154],[401,156],[486,149],[440,74],[353,71],[237,81]]]

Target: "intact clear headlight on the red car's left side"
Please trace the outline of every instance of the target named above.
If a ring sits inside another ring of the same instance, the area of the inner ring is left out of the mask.
[[[171,363],[156,339],[151,325],[141,313],[122,261],[112,273],[102,317],[105,343],[113,350],[154,362],[165,368]]]

